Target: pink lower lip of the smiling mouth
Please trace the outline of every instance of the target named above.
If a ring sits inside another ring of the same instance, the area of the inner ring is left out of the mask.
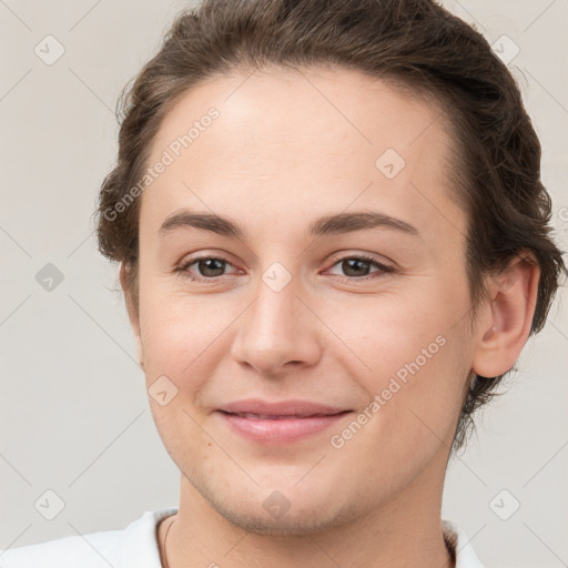
[[[245,418],[235,414],[220,413],[229,425],[242,436],[265,444],[282,444],[323,432],[351,413],[306,418]]]

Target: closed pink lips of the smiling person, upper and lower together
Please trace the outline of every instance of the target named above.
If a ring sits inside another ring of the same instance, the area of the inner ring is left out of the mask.
[[[327,429],[351,410],[311,403],[267,403],[247,399],[219,408],[219,414],[241,436],[262,444],[287,444]]]

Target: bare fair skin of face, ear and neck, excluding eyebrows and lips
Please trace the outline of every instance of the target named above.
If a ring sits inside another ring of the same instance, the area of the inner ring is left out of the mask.
[[[470,372],[495,376],[514,365],[528,338],[538,268],[514,260],[489,281],[471,322],[467,219],[450,195],[453,143],[439,110],[345,69],[247,75],[186,92],[149,159],[155,163],[187,124],[219,109],[142,196],[140,304],[128,303],[146,386],[165,375],[178,388],[164,406],[150,397],[182,474],[179,513],[158,530],[161,555],[174,520],[170,568],[452,566],[442,493]],[[406,162],[392,180],[375,166],[386,149]],[[180,226],[161,236],[182,207],[229,216],[247,235]],[[419,235],[387,227],[307,234],[323,215],[365,211],[403,220]],[[348,272],[341,261],[362,253],[395,271],[364,264]],[[207,255],[226,258],[213,272],[223,275],[212,278],[195,263],[176,272]],[[280,292],[262,278],[274,262],[291,276]],[[124,270],[121,282],[128,293]],[[439,336],[444,346],[334,448],[331,436]],[[215,412],[248,397],[353,413],[325,432],[267,446],[235,434]],[[274,490],[290,501],[280,518],[263,508]]]

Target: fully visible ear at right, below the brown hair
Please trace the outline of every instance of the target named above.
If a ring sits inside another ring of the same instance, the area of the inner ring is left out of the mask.
[[[530,252],[518,254],[491,276],[490,302],[479,317],[471,371],[481,377],[513,368],[530,334],[540,268]]]

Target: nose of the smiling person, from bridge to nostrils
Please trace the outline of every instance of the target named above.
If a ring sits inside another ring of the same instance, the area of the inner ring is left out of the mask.
[[[235,361],[272,377],[317,363],[325,326],[298,287],[294,278],[280,291],[260,281],[255,300],[239,318],[231,349]]]

